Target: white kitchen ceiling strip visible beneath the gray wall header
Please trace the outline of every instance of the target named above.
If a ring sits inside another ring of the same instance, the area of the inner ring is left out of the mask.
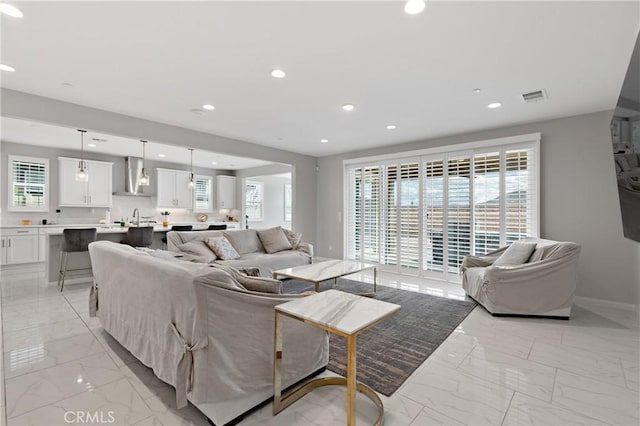
[[[77,129],[8,117],[2,117],[1,125],[2,140],[5,142],[80,151],[80,134]],[[90,143],[96,146],[88,146]],[[91,130],[88,130],[84,135],[84,147],[88,158],[91,158],[92,152],[117,155],[120,157],[142,157],[142,143],[139,140],[105,135]],[[164,157],[160,157],[159,154],[164,154]],[[177,145],[160,144],[153,141],[148,141],[147,143],[146,158],[148,160],[174,164],[190,163],[190,153],[187,148]],[[216,164],[212,164],[212,162]],[[193,165],[195,167],[239,170],[268,164],[273,163],[209,151],[195,150],[193,152]]]

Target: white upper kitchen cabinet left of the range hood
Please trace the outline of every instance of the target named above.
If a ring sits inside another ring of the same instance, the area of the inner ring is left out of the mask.
[[[63,207],[111,207],[113,163],[85,160],[89,180],[76,180],[78,158],[58,158],[59,205]]]

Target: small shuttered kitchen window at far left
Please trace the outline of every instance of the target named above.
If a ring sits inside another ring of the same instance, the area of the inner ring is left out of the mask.
[[[10,211],[49,211],[49,160],[8,156]]]

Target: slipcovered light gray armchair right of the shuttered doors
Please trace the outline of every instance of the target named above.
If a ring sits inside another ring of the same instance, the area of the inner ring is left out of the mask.
[[[522,315],[569,319],[576,289],[580,245],[529,238],[536,249],[530,261],[494,266],[507,249],[485,256],[466,256],[462,286],[494,316]]]

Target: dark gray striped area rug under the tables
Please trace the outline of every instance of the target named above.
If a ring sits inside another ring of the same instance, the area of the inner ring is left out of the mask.
[[[320,285],[331,288],[333,281]],[[283,293],[313,290],[313,284],[296,280],[283,282]],[[367,293],[371,284],[339,279],[336,290]],[[375,298],[402,306],[400,312],[358,337],[358,381],[390,396],[476,307],[469,299],[459,301],[412,291],[378,286]],[[347,344],[340,336],[329,337],[329,370],[345,375]]]

